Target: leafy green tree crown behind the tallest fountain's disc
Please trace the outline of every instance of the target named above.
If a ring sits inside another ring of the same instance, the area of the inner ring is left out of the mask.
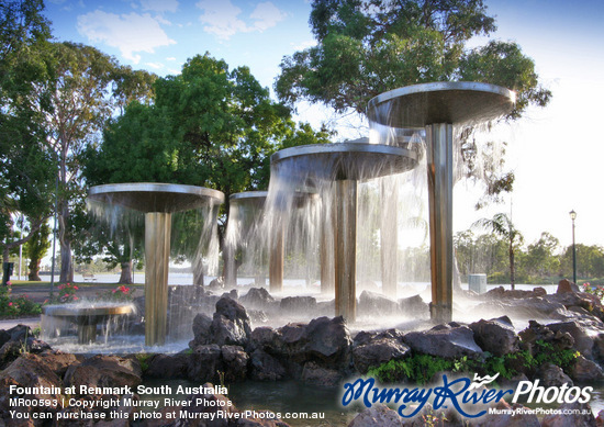
[[[515,90],[511,116],[517,117],[551,95],[515,43],[467,47],[471,37],[495,30],[481,0],[315,0],[310,23],[317,45],[284,57],[276,83],[290,105],[307,100],[363,113],[369,99],[388,90],[473,80]]]

